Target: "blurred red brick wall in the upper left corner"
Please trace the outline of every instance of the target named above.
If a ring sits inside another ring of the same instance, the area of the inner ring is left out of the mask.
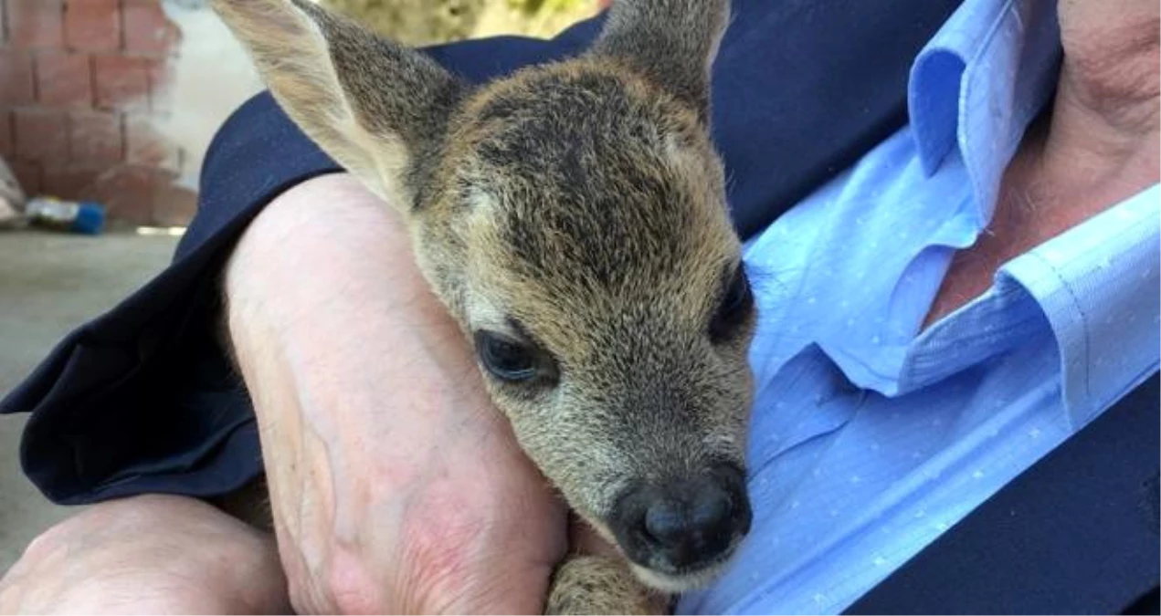
[[[170,111],[179,31],[160,0],[0,0],[0,153],[26,193],[95,200],[114,218],[183,224]]]

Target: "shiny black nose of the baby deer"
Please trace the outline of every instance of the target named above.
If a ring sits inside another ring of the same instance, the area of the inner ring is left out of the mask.
[[[687,571],[717,561],[750,530],[743,473],[715,468],[695,479],[626,492],[614,508],[613,532],[633,560]]]

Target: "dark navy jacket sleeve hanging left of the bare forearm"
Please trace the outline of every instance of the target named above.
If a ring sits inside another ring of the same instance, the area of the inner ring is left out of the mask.
[[[215,343],[217,273],[271,198],[339,171],[276,117],[261,96],[225,123],[173,263],[71,333],[0,403],[6,413],[33,412],[21,462],[49,499],[72,505],[140,492],[209,495],[253,477],[252,412],[241,391],[229,386],[233,379]],[[204,404],[215,393],[225,404]]]

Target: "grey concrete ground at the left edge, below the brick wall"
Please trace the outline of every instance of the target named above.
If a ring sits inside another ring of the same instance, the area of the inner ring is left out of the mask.
[[[176,241],[131,232],[86,238],[0,231],[0,396],[65,334],[159,271]],[[21,472],[23,425],[23,415],[0,415],[0,574],[37,534],[73,513],[50,503]]]

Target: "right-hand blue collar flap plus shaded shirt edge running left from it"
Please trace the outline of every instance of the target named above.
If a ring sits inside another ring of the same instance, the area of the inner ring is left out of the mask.
[[[1003,264],[993,287],[908,348],[897,393],[1040,333],[1054,339],[1069,426],[1161,368],[1161,183]]]

